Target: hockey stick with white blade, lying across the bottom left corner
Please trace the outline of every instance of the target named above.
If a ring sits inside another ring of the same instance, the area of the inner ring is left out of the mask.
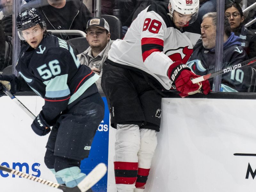
[[[16,171],[15,169],[3,167],[1,165],[0,170],[9,172],[14,175],[18,175],[20,177],[24,177],[29,180],[36,181],[38,183],[42,183],[44,185],[48,185],[49,187],[58,188],[66,192],[85,192],[93,185],[95,185],[106,174],[107,166],[104,163],[98,164],[80,183],[78,183],[76,187],[73,188],[67,187],[65,185],[60,185],[58,183],[53,183],[51,181],[47,181],[39,177],[29,175],[27,173]]]

